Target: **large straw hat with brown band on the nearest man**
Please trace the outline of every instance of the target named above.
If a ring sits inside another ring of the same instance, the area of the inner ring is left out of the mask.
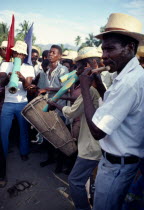
[[[142,34],[142,23],[135,17],[121,13],[112,13],[109,16],[105,32],[98,34],[96,38],[102,39],[104,34],[118,33],[130,36],[140,43],[144,43],[144,34]]]

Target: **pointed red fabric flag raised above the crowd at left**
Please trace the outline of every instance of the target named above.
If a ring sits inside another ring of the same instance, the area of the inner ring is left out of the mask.
[[[8,45],[7,45],[7,51],[6,51],[6,61],[9,62],[11,55],[12,55],[12,50],[11,48],[14,46],[14,22],[15,22],[15,18],[14,15],[12,16],[12,23],[11,23],[11,27],[9,30],[9,34],[8,34]]]

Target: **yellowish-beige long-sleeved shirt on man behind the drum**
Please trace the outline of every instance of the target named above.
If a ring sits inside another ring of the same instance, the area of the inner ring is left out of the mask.
[[[94,87],[90,88],[93,104],[98,108],[99,94]],[[99,141],[95,140],[89,130],[85,113],[82,95],[80,95],[74,104],[62,109],[63,115],[67,118],[76,118],[81,116],[80,133],[78,138],[78,156],[89,160],[99,160],[101,158],[101,149]]]

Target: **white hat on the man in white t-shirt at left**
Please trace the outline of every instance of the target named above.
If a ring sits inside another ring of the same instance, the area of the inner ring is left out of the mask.
[[[11,49],[17,53],[27,55],[27,44],[23,41],[16,41],[15,46]]]

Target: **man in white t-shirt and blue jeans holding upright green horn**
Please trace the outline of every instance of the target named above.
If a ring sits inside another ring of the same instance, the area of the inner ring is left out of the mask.
[[[5,100],[1,112],[1,140],[5,156],[8,153],[8,137],[14,116],[17,118],[20,128],[20,155],[22,160],[28,159],[29,140],[27,122],[21,115],[22,109],[27,105],[27,87],[34,78],[34,69],[32,66],[23,63],[27,55],[27,45],[25,42],[17,41],[12,48],[14,57],[21,59],[20,71],[17,71],[19,78],[17,92],[11,94],[8,90],[8,84],[5,86]],[[3,62],[0,72],[7,73],[10,77],[14,64],[12,62]]]

